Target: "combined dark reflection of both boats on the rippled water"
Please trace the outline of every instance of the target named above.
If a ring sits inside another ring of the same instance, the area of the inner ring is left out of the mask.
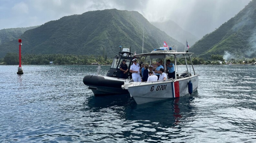
[[[115,118],[122,120],[120,124],[125,125],[127,121],[135,121],[142,124],[160,124],[161,126],[174,127],[179,123],[191,121],[197,111],[194,99],[198,93],[183,98],[171,98],[165,101],[155,101],[138,105],[129,94],[118,94],[113,96],[95,97],[91,96],[85,106],[86,110],[99,112],[115,112]],[[125,120],[123,120],[125,119]]]

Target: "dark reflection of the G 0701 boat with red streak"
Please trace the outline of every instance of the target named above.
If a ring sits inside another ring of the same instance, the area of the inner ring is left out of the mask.
[[[195,97],[197,97],[197,92],[183,98],[172,98],[141,105],[133,104],[131,108],[125,109],[126,119],[174,127],[181,122],[190,121],[190,117],[196,111],[194,109],[196,107],[193,105]]]

